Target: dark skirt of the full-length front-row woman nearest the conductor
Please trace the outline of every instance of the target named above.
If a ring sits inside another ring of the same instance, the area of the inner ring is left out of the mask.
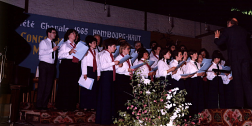
[[[216,76],[209,81],[208,109],[225,108],[225,96],[222,78]]]

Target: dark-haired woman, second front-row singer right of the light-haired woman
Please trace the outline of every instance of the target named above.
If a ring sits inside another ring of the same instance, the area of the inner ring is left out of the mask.
[[[156,77],[159,77],[161,84],[167,84],[166,90],[172,89],[171,75],[175,74],[176,67],[170,67],[167,64],[167,59],[171,58],[171,51],[169,49],[162,49],[159,53],[158,70],[156,72]],[[166,82],[167,81],[167,82]]]

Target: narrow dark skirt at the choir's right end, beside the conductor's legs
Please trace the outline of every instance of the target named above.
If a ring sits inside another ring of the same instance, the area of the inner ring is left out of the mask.
[[[226,108],[227,109],[235,108],[234,82],[231,80],[229,84],[223,84],[223,87],[224,87]]]

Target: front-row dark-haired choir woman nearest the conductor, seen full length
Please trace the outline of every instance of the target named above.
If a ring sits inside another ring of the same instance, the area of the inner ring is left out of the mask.
[[[223,75],[219,72],[214,72],[213,69],[222,69],[219,64],[221,59],[220,53],[214,52],[212,55],[212,65],[208,69],[207,79],[209,80],[208,91],[208,109],[225,108],[225,95],[223,88]],[[217,76],[218,75],[218,76]]]

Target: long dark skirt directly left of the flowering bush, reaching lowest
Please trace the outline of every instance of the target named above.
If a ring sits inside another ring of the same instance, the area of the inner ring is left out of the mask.
[[[112,117],[115,114],[115,82],[113,71],[102,71],[99,85],[99,94],[96,111],[96,124],[112,124]]]

